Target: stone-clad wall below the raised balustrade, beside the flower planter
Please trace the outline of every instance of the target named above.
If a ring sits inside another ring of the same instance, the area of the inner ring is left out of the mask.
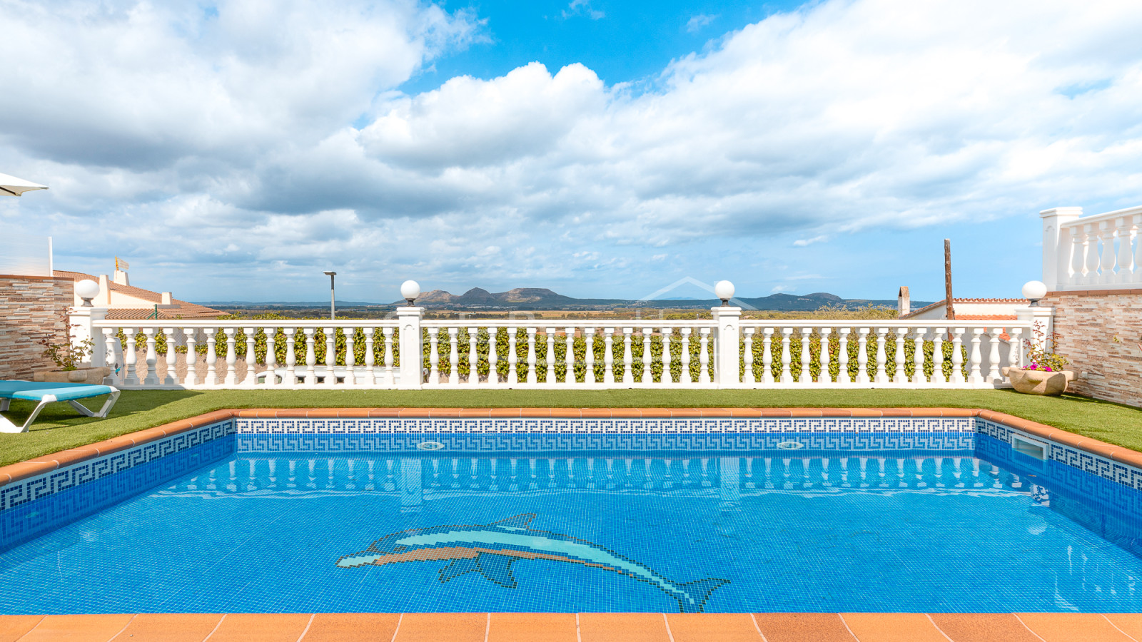
[[[1042,304],[1055,308],[1056,352],[1085,372],[1075,392],[1142,407],[1142,290],[1048,292]]]

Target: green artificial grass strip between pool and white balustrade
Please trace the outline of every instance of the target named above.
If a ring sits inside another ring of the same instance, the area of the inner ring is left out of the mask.
[[[104,398],[87,400],[97,409]],[[34,407],[13,402],[22,424]],[[1142,450],[1142,409],[1083,396],[995,391],[124,391],[106,419],[66,403],[47,407],[30,432],[0,433],[0,465],[223,408],[983,408]]]

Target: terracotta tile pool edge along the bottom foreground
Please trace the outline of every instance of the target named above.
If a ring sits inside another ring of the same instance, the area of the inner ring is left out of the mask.
[[[1139,613],[113,613],[0,616],[0,642],[1128,642]]]

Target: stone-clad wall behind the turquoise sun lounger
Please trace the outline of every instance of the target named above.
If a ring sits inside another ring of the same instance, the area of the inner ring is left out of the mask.
[[[62,337],[59,313],[73,302],[71,279],[0,274],[0,379],[31,379],[33,370],[55,368],[42,356],[43,337]]]

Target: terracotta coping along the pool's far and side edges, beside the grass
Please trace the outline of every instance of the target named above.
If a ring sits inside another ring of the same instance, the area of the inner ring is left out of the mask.
[[[246,408],[215,410],[153,428],[61,450],[26,462],[0,467],[0,487],[57,468],[95,459],[111,452],[156,441],[230,418],[821,418],[821,417],[982,417],[1018,428],[1030,435],[1049,439],[1087,452],[1142,468],[1142,452],[1086,438],[1068,431],[978,408]]]

